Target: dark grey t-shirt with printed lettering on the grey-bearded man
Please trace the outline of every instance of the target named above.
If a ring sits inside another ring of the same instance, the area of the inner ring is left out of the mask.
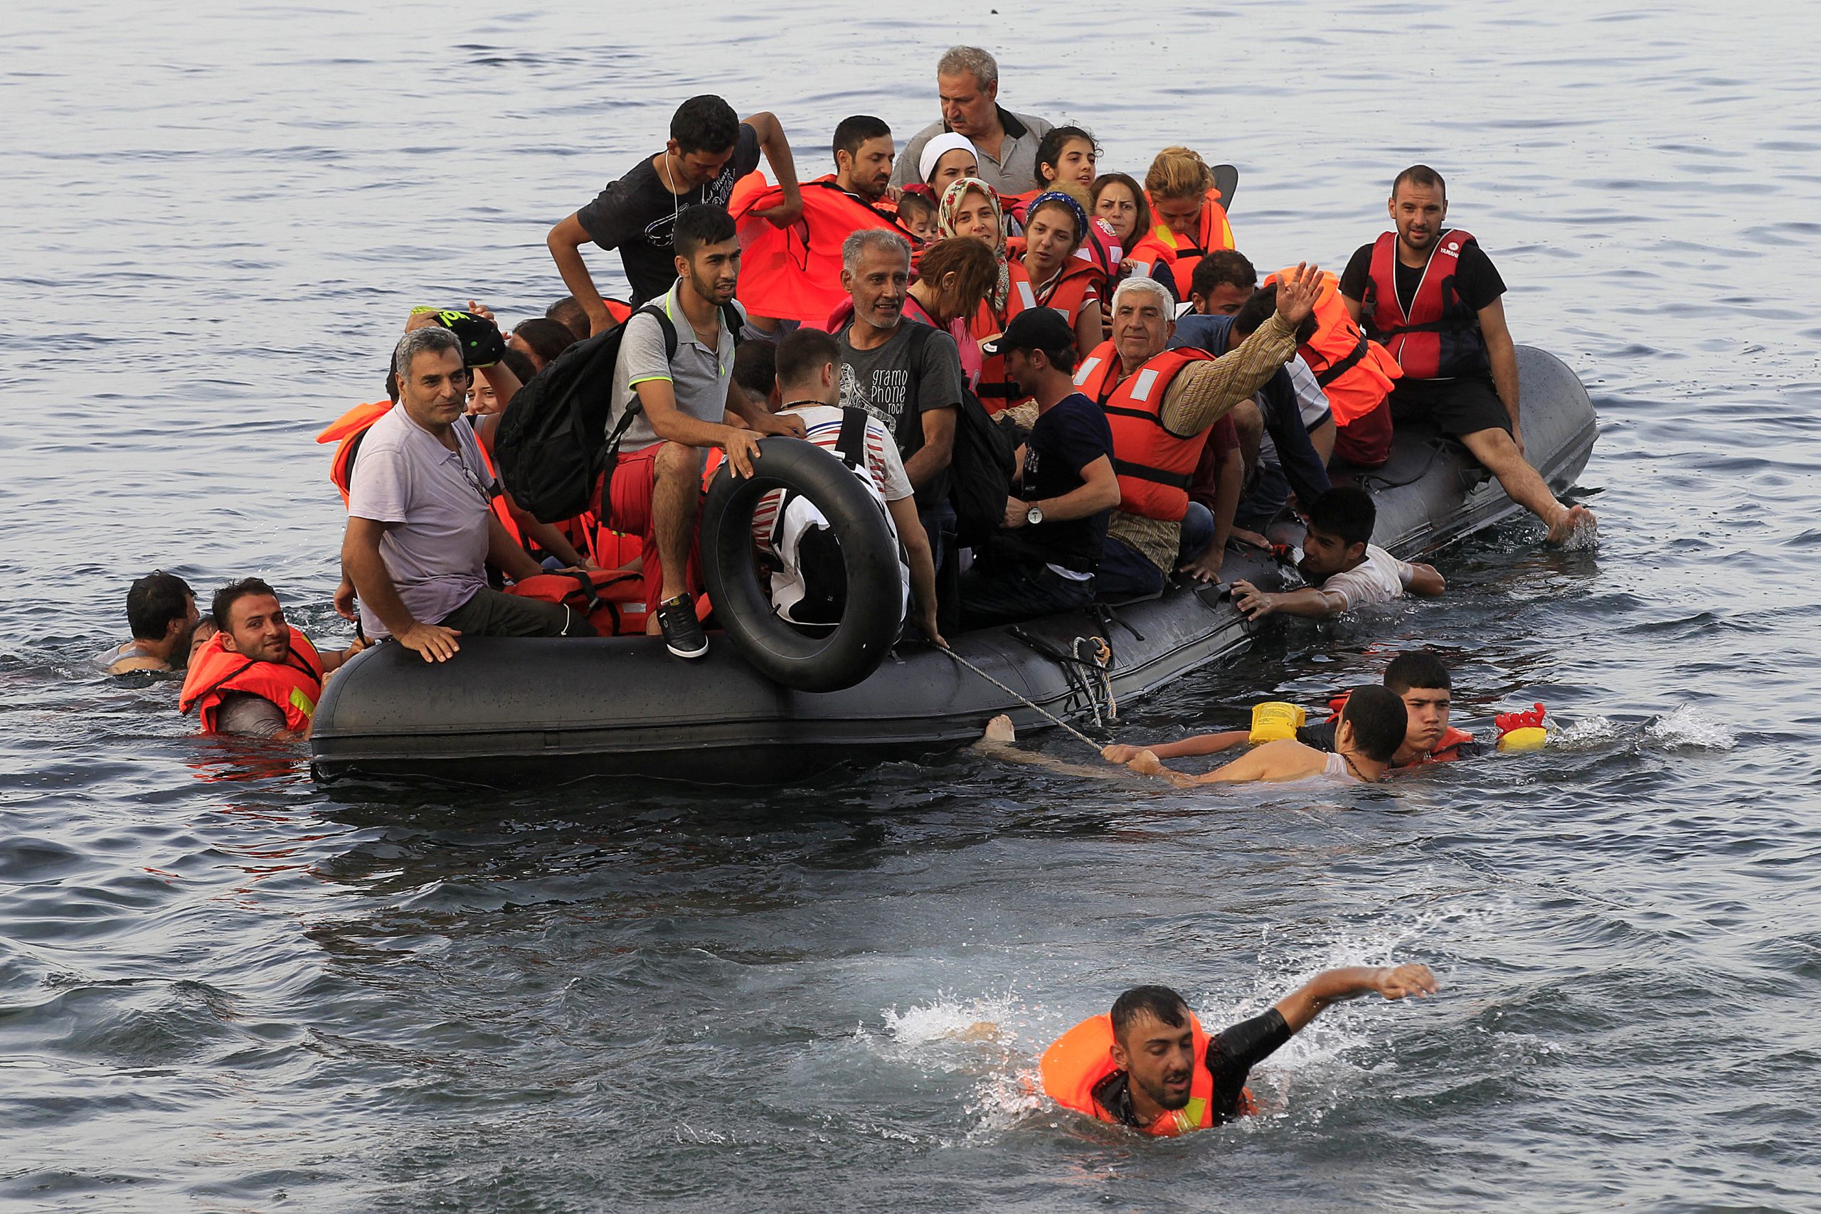
[[[912,351],[910,331],[921,329],[923,348]],[[923,413],[961,404],[961,353],[954,339],[916,320],[905,320],[876,349],[854,349],[841,329],[841,404],[861,408],[885,422],[907,462],[923,448]],[[916,491],[918,510],[949,499],[943,470]]]

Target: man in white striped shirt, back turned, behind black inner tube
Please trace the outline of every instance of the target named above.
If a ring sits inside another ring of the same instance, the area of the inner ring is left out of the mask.
[[[783,400],[779,415],[788,413],[799,419],[810,442],[834,451],[845,419],[845,410],[841,410],[841,346],[819,329],[796,329],[778,344],[776,362],[778,399]],[[885,499],[885,510],[892,517],[910,568],[910,595],[916,604],[910,621],[931,641],[947,648],[947,641],[936,630],[936,566],[929,533],[918,519],[916,491],[910,488],[910,477],[905,475],[898,442],[878,417],[867,419],[867,471],[872,475],[880,497]],[[767,493],[752,513],[752,530],[761,537],[761,542],[772,533],[781,497],[781,490]]]

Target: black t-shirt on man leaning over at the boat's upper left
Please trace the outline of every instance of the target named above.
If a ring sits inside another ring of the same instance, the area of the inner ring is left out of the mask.
[[[617,182],[608,182],[594,202],[575,211],[575,220],[603,249],[619,249],[626,282],[632,284],[632,302],[637,306],[657,298],[677,280],[676,248],[670,244],[677,213],[701,202],[725,207],[734,197],[734,182],[756,167],[759,167],[759,133],[741,122],[739,138],[734,140],[734,158],[714,180],[674,195],[646,157]]]

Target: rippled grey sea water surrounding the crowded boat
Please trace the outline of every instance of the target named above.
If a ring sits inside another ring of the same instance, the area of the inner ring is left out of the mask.
[[[841,116],[934,116],[956,40],[1107,167],[1238,164],[1264,268],[1338,269],[1435,164],[1602,417],[1597,551],[1480,537],[1444,601],[1284,630],[1127,732],[1433,644],[1460,723],[1544,701],[1557,746],[1351,794],[958,755],[331,797],[86,666],[153,566],[339,635],[311,437],[412,304],[541,313],[546,228],[692,93],[821,173]],[[0,1207],[1821,1207],[1817,44],[1810,4],[7,7]],[[1125,985],[1224,1021],[1389,957],[1444,994],[1326,1016],[1244,1125],[1029,1096]]]

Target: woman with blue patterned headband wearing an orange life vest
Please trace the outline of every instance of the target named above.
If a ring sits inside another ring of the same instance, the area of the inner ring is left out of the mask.
[[[1093,262],[1074,255],[1085,237],[1087,211],[1080,202],[1058,191],[1038,195],[1027,213],[1025,235],[1007,246],[1012,260],[1005,304],[991,311],[982,308],[974,315],[974,340],[998,337],[1027,308],[1053,308],[1074,329],[1076,357],[1098,346],[1104,275]],[[1023,393],[1005,375],[1003,357],[985,359],[978,395],[989,413],[1023,400]]]

